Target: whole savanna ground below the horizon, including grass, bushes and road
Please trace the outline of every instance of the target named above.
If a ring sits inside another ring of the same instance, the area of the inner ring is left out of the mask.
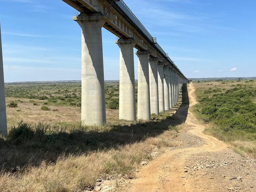
[[[178,104],[148,122],[119,120],[118,83],[106,82],[104,126],[80,122],[80,83],[8,83],[5,89],[0,192],[256,188],[253,80],[184,84]]]

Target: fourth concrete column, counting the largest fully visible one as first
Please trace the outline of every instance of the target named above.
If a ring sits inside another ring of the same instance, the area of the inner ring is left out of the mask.
[[[159,100],[158,100],[158,58],[149,59],[149,88],[150,88],[150,110],[151,114],[159,115]]]

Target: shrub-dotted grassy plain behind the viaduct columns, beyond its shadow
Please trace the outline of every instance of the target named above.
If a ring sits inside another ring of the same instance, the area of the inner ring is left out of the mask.
[[[137,86],[136,86],[137,87]],[[80,83],[8,83],[5,86],[8,126],[18,121],[72,123],[81,119]],[[105,84],[108,121],[115,121],[119,106],[119,85]],[[42,108],[43,107],[43,108]],[[45,110],[42,110],[45,109]]]

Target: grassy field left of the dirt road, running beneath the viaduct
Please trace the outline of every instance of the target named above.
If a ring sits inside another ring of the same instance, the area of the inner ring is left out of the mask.
[[[107,175],[132,178],[142,160],[152,159],[152,150],[180,144],[172,138],[182,122],[173,114],[188,104],[186,86],[173,110],[149,122],[129,122],[118,120],[118,84],[106,83],[108,123],[94,127],[80,124],[80,87],[6,85],[0,192],[82,192]]]

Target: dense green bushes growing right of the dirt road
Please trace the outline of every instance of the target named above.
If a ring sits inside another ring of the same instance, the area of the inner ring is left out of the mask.
[[[247,130],[256,133],[255,88],[238,84],[219,93],[209,88],[201,90],[200,98],[198,107],[205,122],[214,122],[224,132]]]

